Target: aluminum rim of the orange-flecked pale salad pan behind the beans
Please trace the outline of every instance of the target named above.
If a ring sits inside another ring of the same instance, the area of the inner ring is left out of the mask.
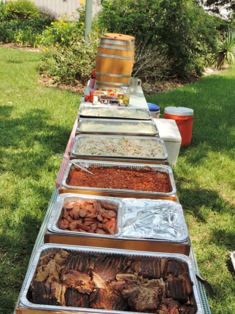
[[[135,140],[135,139],[139,139],[141,141],[147,141],[146,146],[147,145],[151,145],[151,142],[157,142],[161,145],[162,150],[163,150],[163,157],[144,157],[144,156],[118,156],[118,155],[83,155],[83,154],[78,154],[76,153],[76,148],[79,146],[79,141],[80,139],[83,138],[119,138],[119,139],[130,139],[130,140]],[[126,135],[93,135],[93,134],[80,134],[80,135],[76,135],[75,136],[75,140],[73,143],[73,147],[72,147],[72,151],[71,151],[71,156],[73,157],[94,157],[94,158],[119,158],[119,159],[141,159],[141,160],[146,160],[146,162],[148,160],[163,160],[163,161],[167,161],[168,158],[168,153],[167,153],[167,149],[166,149],[166,145],[164,143],[164,140],[160,137],[148,137],[148,138],[143,138],[141,136],[126,136]]]

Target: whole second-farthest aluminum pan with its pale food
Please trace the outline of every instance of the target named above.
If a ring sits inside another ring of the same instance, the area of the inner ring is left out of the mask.
[[[99,130],[82,130],[82,126],[86,126],[89,123],[94,123],[95,125],[103,124],[107,126],[107,131]],[[152,126],[153,132],[142,132],[141,128],[138,131],[126,131],[126,126]],[[112,131],[112,126],[120,126],[121,131]],[[117,120],[117,119],[89,119],[89,118],[80,118],[77,125],[77,133],[92,133],[92,134],[129,134],[129,135],[144,135],[144,136],[153,136],[158,135],[157,125],[152,121],[138,121],[138,120]]]

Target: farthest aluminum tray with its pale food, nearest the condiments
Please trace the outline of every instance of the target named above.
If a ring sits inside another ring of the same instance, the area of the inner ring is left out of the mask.
[[[91,110],[89,114],[85,112],[86,109]],[[110,109],[109,112],[106,113],[101,113],[98,115],[99,110],[101,109]],[[119,110],[122,114],[117,114],[116,110]],[[122,111],[120,111],[122,110]],[[131,114],[130,114],[131,112]],[[80,116],[82,117],[92,117],[92,118],[117,118],[117,119],[135,119],[135,120],[150,120],[151,116],[149,113],[149,110],[147,109],[142,109],[142,108],[133,108],[133,107],[120,107],[120,106],[86,106],[86,105],[81,105],[79,108],[79,113]],[[140,114],[145,115],[145,117],[142,117]],[[128,116],[126,116],[126,114]]]

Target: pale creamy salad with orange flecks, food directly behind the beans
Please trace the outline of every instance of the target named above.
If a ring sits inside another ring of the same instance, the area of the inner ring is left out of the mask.
[[[152,139],[86,136],[75,149],[78,155],[163,158],[162,143]]]

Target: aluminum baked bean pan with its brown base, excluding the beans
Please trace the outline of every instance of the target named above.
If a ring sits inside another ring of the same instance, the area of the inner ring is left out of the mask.
[[[106,161],[90,161],[90,160],[81,160],[74,159],[73,162],[78,163],[84,168],[89,168],[92,166],[95,167],[123,167],[130,169],[143,169],[149,167],[155,171],[165,172],[169,175],[170,183],[172,186],[172,191],[168,193],[164,192],[148,192],[148,191],[137,191],[137,190],[120,190],[120,189],[108,189],[108,188],[89,188],[89,187],[76,187],[70,186],[66,183],[66,180],[69,175],[70,169],[74,169],[75,166],[68,164],[67,169],[65,170],[64,177],[59,189],[59,193],[71,192],[73,193],[88,193],[88,194],[97,194],[105,196],[123,196],[123,197],[137,197],[143,198],[148,196],[149,198],[169,198],[169,200],[177,201],[176,197],[176,185],[173,177],[172,168],[166,165],[151,165],[151,164],[135,164],[135,163],[122,163],[122,162],[106,162]],[[92,179],[92,178],[91,178]],[[79,192],[78,192],[79,191]],[[108,194],[108,195],[107,195]]]

